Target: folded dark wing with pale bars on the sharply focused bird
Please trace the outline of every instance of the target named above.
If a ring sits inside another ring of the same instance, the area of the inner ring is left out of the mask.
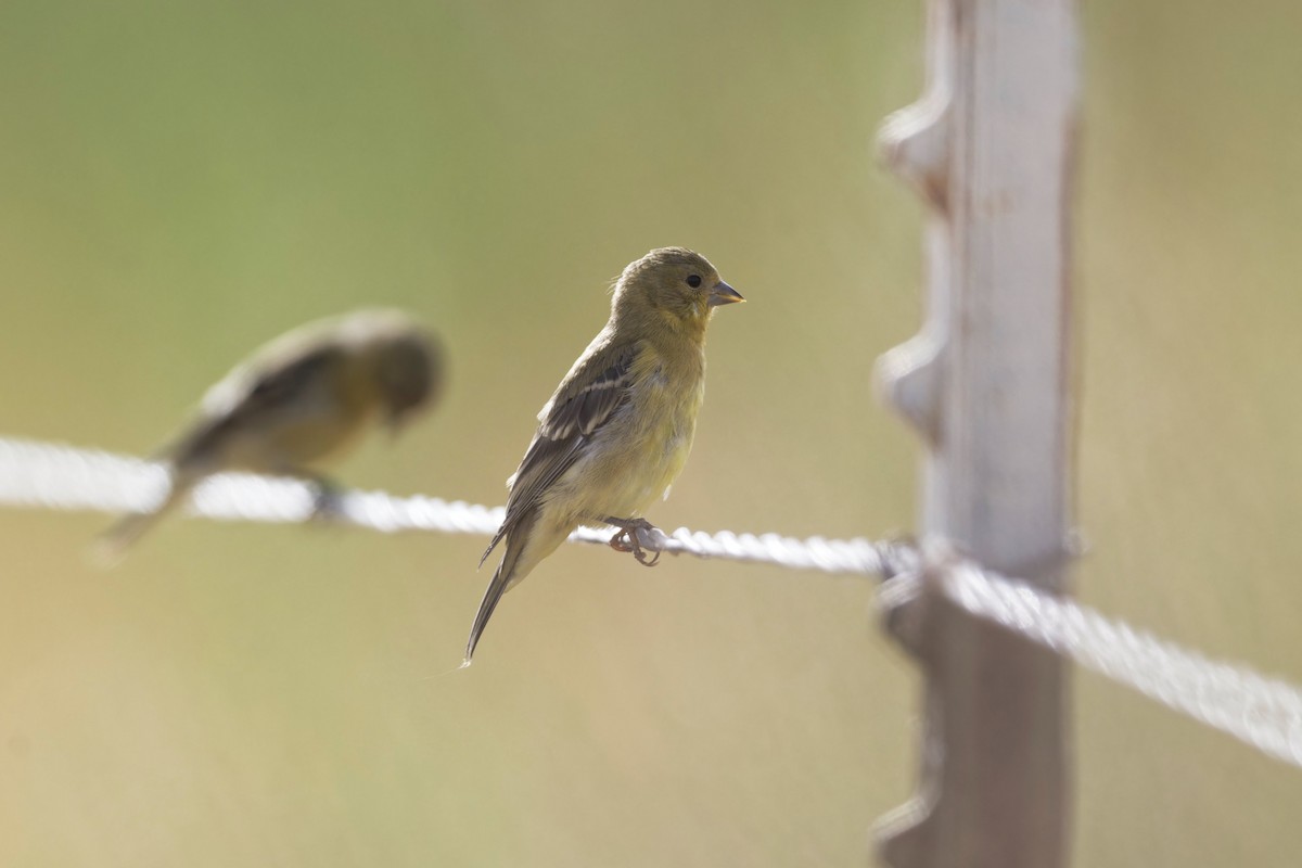
[[[638,345],[605,346],[586,355],[543,409],[538,433],[512,480],[506,518],[480,563],[578,459],[583,445],[629,398]]]

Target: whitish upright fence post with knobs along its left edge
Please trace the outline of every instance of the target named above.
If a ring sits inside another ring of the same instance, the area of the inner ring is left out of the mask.
[[[921,333],[878,383],[927,445],[923,536],[1062,592],[1072,495],[1074,0],[930,0],[926,95],[885,161],[931,206]],[[879,825],[894,868],[1055,868],[1068,850],[1066,671],[923,582],[918,794]]]

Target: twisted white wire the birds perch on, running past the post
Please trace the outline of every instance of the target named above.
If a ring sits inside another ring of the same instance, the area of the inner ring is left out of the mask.
[[[91,449],[0,437],[0,505],[138,511],[156,505],[167,472],[155,463]],[[224,474],[203,483],[190,513],[223,521],[305,522],[314,514],[312,489],[296,480]],[[503,509],[437,497],[348,492],[340,521],[383,532],[492,534]],[[611,531],[579,528],[578,543],[607,543]],[[880,575],[917,569],[917,552],[867,539],[796,539],[777,534],[706,534],[685,527],[656,531],[651,550],[798,570]],[[1255,671],[1204,658],[1169,642],[1109,621],[1065,599],[1040,593],[971,563],[944,574],[948,597],[971,614],[1014,630],[1169,708],[1228,733],[1264,753],[1302,766],[1302,691]]]

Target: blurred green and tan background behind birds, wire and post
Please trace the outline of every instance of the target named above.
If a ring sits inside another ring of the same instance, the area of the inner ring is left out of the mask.
[[[1091,0],[1081,596],[1302,678],[1302,8]],[[345,481],[500,502],[652,246],[707,254],[694,457],[652,521],[878,536],[870,368],[923,212],[872,160],[921,3],[0,5],[0,433],[146,452],[240,357],[397,305],[440,411]],[[482,539],[0,517],[0,864],[853,865],[910,793],[871,582],[566,548],[460,661]],[[1286,864],[1302,776],[1077,681],[1079,865]]]

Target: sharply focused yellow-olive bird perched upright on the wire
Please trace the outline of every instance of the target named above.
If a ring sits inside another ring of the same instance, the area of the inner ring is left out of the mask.
[[[466,644],[470,665],[501,595],[579,524],[620,528],[612,548],[647,566],[643,510],[669,492],[691,450],[706,389],[706,325],[745,301],[710,262],[661,247],[624,269],[611,319],[538,414],[538,432],[506,480],[506,518],[479,563],[506,541]]]

